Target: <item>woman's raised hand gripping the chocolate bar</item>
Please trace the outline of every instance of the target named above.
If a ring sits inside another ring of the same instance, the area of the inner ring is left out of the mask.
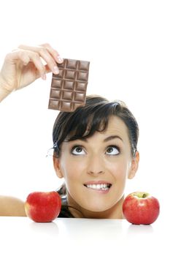
[[[47,64],[43,64],[42,59]],[[62,63],[63,59],[49,44],[20,45],[4,59],[0,72],[1,86],[11,92],[28,86],[37,78],[45,80],[47,72],[59,73],[56,62]]]

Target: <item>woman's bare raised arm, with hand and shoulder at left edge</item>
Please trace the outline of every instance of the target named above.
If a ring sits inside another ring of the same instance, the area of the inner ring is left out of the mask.
[[[48,43],[20,45],[7,53],[0,72],[0,102],[12,91],[28,86],[38,78],[45,80],[47,72],[58,74],[57,64],[62,62],[58,51]],[[23,201],[0,196],[0,216],[26,216]]]

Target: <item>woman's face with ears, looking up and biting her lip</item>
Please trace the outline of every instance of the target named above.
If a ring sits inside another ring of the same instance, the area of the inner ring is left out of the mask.
[[[82,212],[112,211],[138,164],[131,156],[128,129],[116,116],[104,132],[63,142],[61,157],[54,161],[56,173],[66,181],[69,205]]]

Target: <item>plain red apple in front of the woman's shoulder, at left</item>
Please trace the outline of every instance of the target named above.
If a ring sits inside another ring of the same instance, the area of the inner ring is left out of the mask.
[[[52,222],[61,211],[58,192],[32,192],[25,202],[26,215],[34,222]]]

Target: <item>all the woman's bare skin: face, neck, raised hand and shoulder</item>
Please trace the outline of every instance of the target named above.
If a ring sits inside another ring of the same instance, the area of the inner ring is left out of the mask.
[[[42,59],[47,64],[43,64]],[[47,72],[58,74],[57,63],[62,61],[49,44],[20,45],[4,59],[0,72],[0,101],[37,78],[45,80]],[[131,155],[127,127],[117,117],[109,119],[106,131],[96,132],[87,141],[63,142],[61,157],[54,157],[55,172],[66,181],[68,203],[82,213],[70,208],[78,218],[122,219],[125,181],[134,178],[138,164],[139,152]],[[85,186],[98,181],[103,185],[111,184],[108,192]],[[0,196],[0,216],[26,216],[24,202]]]

